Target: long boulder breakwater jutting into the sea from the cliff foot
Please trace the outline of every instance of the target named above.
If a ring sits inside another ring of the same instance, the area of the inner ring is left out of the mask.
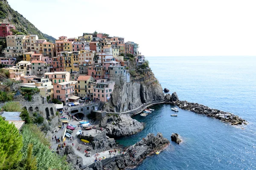
[[[231,125],[247,124],[247,121],[241,119],[239,116],[236,116],[233,113],[219,111],[217,109],[212,109],[207,106],[200,105],[198,103],[180,101],[178,99],[176,92],[174,92],[172,95],[166,94],[165,101],[168,103],[175,104],[181,109],[192,111],[198,114],[205,114],[208,117],[220,119],[221,121],[230,123]]]

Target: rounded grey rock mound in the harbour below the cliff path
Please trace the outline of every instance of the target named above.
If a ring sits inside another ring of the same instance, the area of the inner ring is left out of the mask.
[[[144,128],[142,123],[132,119],[128,114],[105,116],[101,126],[111,137],[130,136]]]

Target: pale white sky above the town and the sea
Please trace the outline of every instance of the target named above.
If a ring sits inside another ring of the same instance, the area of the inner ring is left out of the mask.
[[[95,30],[139,44],[145,56],[256,55],[255,0],[8,0],[40,31]]]

